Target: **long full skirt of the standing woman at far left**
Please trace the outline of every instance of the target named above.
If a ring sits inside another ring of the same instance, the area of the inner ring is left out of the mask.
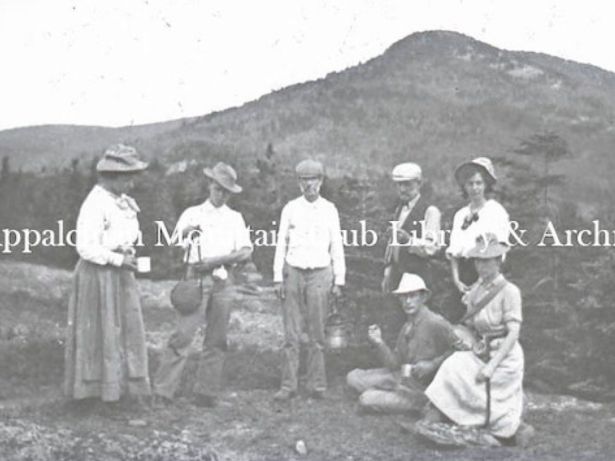
[[[68,305],[64,391],[69,398],[149,395],[139,286],[132,272],[80,259]]]

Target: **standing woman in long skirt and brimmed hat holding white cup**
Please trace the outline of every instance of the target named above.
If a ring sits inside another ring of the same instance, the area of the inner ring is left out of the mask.
[[[98,184],[77,218],[77,253],[69,301],[65,393],[117,401],[149,395],[145,328],[133,272],[139,207],[126,195],[148,164],[130,146],[106,149]]]

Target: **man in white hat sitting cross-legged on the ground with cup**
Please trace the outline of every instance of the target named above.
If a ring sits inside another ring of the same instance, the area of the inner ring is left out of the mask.
[[[407,321],[392,351],[383,341],[378,325],[368,331],[386,368],[355,369],[347,384],[360,393],[360,408],[366,411],[402,413],[420,410],[426,403],[423,390],[452,350],[456,336],[453,327],[425,305],[431,292],[423,278],[403,274],[399,296]]]

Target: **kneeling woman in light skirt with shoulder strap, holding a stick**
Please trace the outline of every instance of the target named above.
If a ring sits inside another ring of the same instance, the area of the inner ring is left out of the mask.
[[[483,347],[454,352],[425,392],[456,424],[486,425],[498,438],[515,436],[523,406],[523,350],[518,342],[521,294],[500,274],[508,249],[488,234],[486,241],[479,237],[470,250],[479,278],[464,296],[468,309],[464,323],[482,338],[478,344]]]

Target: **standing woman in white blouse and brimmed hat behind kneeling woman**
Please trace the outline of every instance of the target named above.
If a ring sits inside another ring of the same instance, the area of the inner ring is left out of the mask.
[[[469,199],[470,203],[454,215],[446,255],[451,259],[454,285],[463,294],[470,290],[478,278],[474,264],[467,258],[477,238],[490,233],[495,234],[499,242],[507,243],[510,225],[504,207],[496,200],[487,198],[496,183],[490,159],[478,157],[459,165],[455,179],[464,199]]]

